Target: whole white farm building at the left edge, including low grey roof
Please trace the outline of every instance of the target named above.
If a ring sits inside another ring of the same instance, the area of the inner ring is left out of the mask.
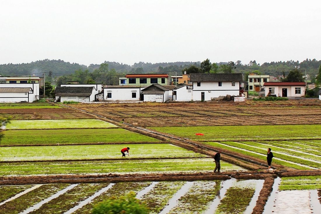
[[[29,102],[39,100],[39,83],[0,84],[0,102]]]

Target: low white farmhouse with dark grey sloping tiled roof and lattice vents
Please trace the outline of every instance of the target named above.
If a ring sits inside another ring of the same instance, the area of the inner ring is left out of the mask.
[[[93,102],[95,101],[96,88],[91,87],[56,87],[56,100],[60,99],[60,102],[75,101],[75,102]]]

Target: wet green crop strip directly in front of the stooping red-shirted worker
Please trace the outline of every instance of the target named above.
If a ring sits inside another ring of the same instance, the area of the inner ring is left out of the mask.
[[[151,159],[119,161],[70,161],[0,163],[1,175],[91,174],[91,173],[144,173],[144,172],[212,172],[211,158]],[[221,170],[244,170],[222,162]]]

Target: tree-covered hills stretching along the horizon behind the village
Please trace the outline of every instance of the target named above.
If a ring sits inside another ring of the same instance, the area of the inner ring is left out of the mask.
[[[53,85],[64,84],[68,81],[79,83],[102,83],[118,85],[118,78],[124,77],[127,73],[168,73],[169,76],[192,72],[210,73],[242,73],[247,79],[249,72],[272,75],[274,77],[286,76],[293,69],[305,71],[311,76],[311,82],[315,81],[315,75],[319,72],[321,60],[306,59],[302,62],[289,60],[278,62],[256,63],[251,60],[249,63],[242,63],[240,60],[233,62],[214,62],[209,59],[197,62],[138,62],[127,65],[119,62],[105,61],[102,64],[90,64],[89,66],[78,63],[65,62],[64,60],[37,60],[21,64],[1,64],[0,75],[2,76],[42,76],[46,73],[46,80]]]

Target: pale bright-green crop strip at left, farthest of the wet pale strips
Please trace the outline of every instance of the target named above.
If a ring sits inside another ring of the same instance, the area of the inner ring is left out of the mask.
[[[12,120],[6,129],[108,128],[114,124],[97,119]]]

